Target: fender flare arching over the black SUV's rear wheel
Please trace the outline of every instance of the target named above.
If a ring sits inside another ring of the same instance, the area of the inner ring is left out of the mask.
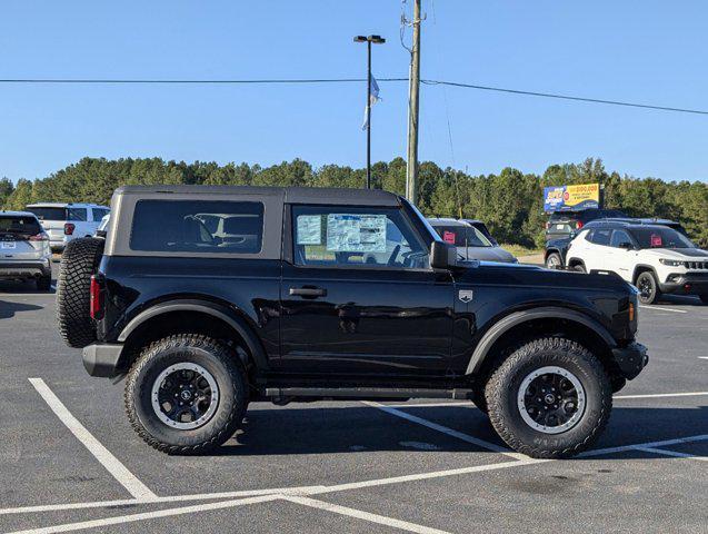
[[[123,327],[120,335],[118,336],[118,342],[126,343],[130,335],[134,333],[140,326],[144,325],[151,319],[154,319],[156,317],[174,312],[206,314],[213,317],[215,319],[223,322],[229,327],[231,327],[241,337],[241,339],[243,339],[246,348],[253,357],[253,360],[258,365],[258,367],[268,367],[268,358],[266,356],[266,352],[258,336],[253,333],[253,329],[246,322],[246,319],[240,317],[235,310],[228,308],[227,306],[198,298],[169,300],[166,303],[156,304],[154,306],[140,312]]]

